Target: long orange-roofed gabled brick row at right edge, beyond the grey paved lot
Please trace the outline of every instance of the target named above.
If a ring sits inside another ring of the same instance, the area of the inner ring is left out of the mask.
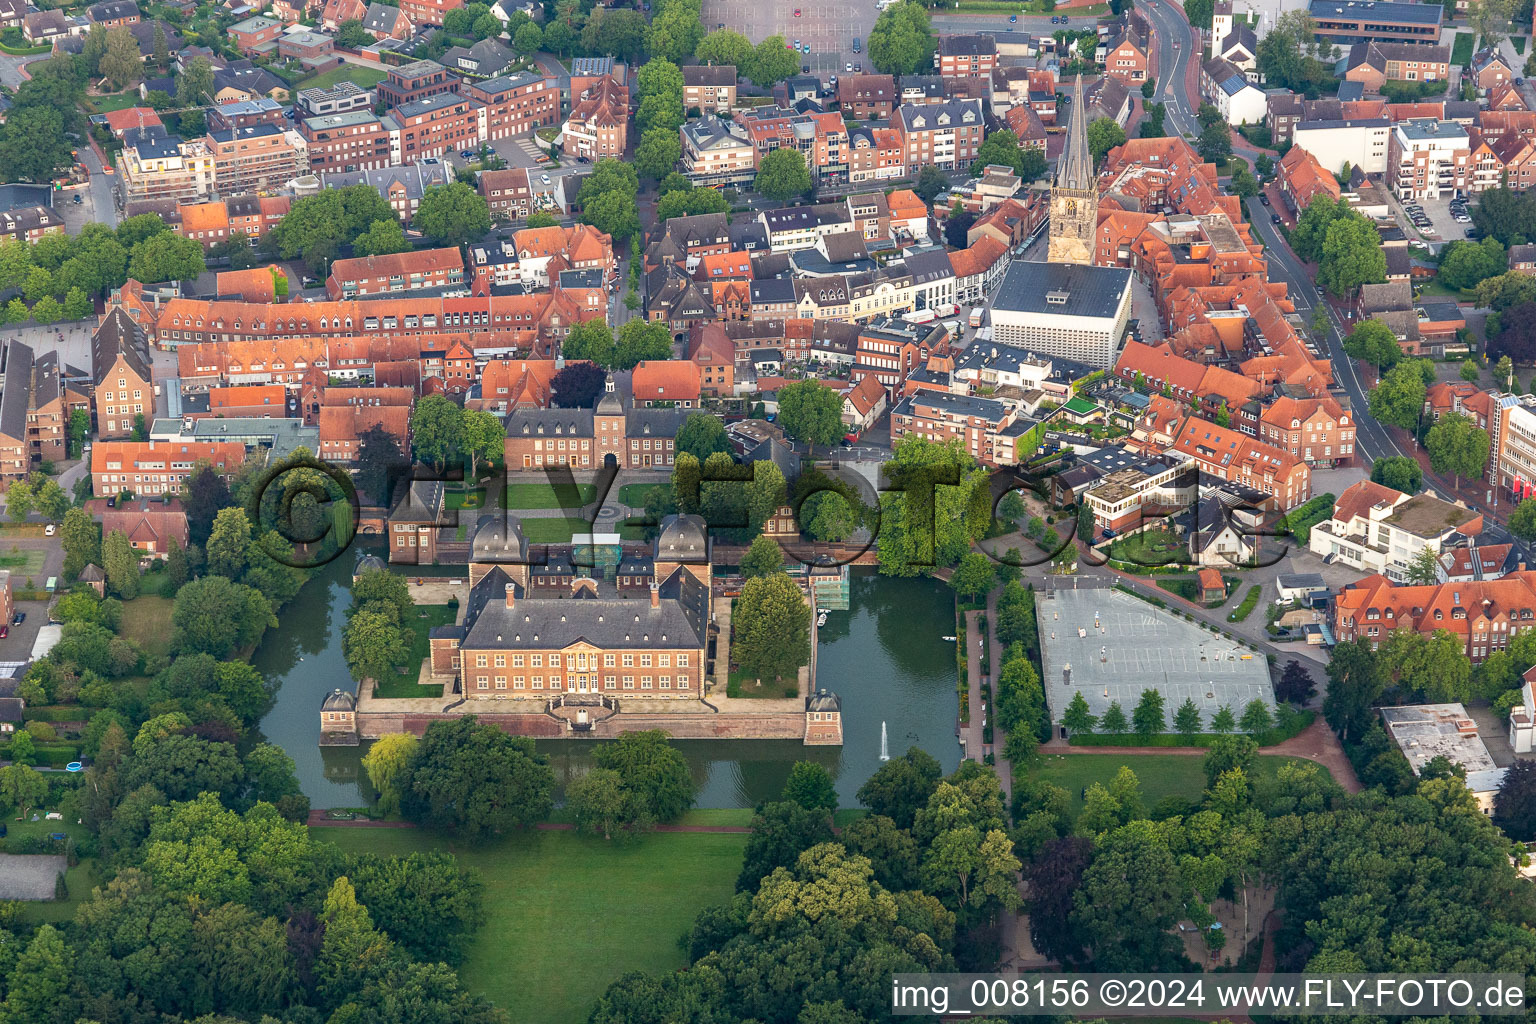
[[[1338,640],[1364,640],[1372,649],[1398,629],[1433,636],[1452,633],[1476,665],[1536,628],[1536,573],[1518,571],[1493,580],[1401,585],[1367,576],[1346,585],[1333,602]]]

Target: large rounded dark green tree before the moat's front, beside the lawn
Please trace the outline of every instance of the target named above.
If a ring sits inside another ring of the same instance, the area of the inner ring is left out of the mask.
[[[427,726],[401,777],[412,821],[481,840],[550,815],[554,772],[533,740],[475,715]]]

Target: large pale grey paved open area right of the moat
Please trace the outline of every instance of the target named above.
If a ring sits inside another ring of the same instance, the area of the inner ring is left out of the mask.
[[[1103,715],[1111,703],[1130,717],[1143,689],[1163,694],[1164,732],[1186,699],[1201,726],[1218,708],[1241,715],[1252,700],[1273,708],[1263,654],[1115,590],[1049,590],[1035,596],[1040,668],[1057,731],[1074,694]]]

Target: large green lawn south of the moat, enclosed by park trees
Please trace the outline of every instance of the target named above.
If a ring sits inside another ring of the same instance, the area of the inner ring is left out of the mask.
[[[416,829],[310,832],[353,852],[452,851],[478,867],[487,921],[459,976],[516,1019],[538,1024],[585,1021],[625,972],[682,967],[677,936],[699,910],[731,898],[746,844],[740,832],[654,834],[633,843],[531,832],[472,847]]]

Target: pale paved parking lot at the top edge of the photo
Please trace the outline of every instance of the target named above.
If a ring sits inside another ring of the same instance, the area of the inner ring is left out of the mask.
[[[796,11],[800,17],[796,17]],[[860,48],[869,40],[874,26],[874,0],[703,0],[700,20],[705,31],[719,25],[742,32],[753,43],[770,35],[782,35],[786,43],[799,40],[811,48],[800,54],[800,66],[811,74],[842,75],[849,63],[862,63],[872,71],[869,51],[852,52],[857,38]]]

